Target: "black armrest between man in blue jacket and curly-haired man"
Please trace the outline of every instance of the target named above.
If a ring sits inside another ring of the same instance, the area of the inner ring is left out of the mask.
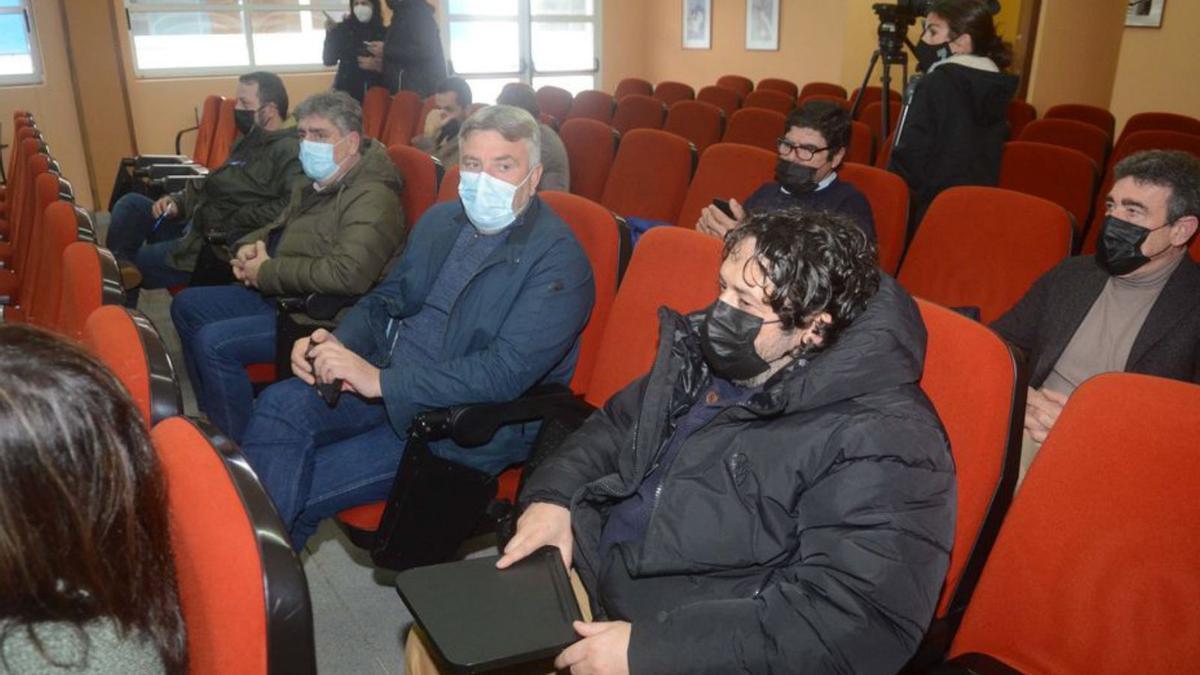
[[[463,448],[475,448],[492,440],[508,424],[535,422],[563,411],[590,406],[563,384],[544,384],[511,401],[473,404],[424,412],[413,419],[413,432],[425,441],[450,438]]]

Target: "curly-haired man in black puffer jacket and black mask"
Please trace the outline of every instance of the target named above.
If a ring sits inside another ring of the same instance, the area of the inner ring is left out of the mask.
[[[660,311],[649,375],[529,477],[499,567],[556,545],[581,673],[895,673],[953,542],[925,329],[845,216],[754,214],[719,300]]]

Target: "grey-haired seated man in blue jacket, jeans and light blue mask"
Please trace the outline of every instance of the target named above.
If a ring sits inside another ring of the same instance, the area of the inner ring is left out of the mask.
[[[322,519],[386,498],[418,413],[515,399],[575,369],[595,288],[570,228],[535,196],[538,123],[485,108],[463,123],[460,145],[461,201],[426,211],[388,277],[336,330],[299,340],[298,380],[254,407],[242,450],[298,550]],[[329,407],[311,384],[337,380],[348,395]],[[431,450],[497,474],[528,455],[535,430]]]

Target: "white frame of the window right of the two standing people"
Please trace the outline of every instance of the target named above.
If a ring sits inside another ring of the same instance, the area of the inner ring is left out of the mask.
[[[443,48],[446,60],[454,65],[452,43],[450,37],[451,22],[488,22],[488,20],[516,20],[517,38],[521,42],[518,49],[518,70],[512,72],[460,72],[451,74],[467,80],[472,79],[515,79],[528,85],[533,85],[535,78],[550,77],[592,77],[592,88],[599,88],[604,82],[604,0],[593,0],[594,10],[592,14],[533,14],[532,0],[517,0],[516,14],[472,14],[455,13],[449,11],[449,0],[442,0],[443,11],[439,12],[439,28],[445,36]],[[534,23],[590,23],[593,40],[593,67],[588,70],[571,71],[539,71],[533,59],[533,24]]]

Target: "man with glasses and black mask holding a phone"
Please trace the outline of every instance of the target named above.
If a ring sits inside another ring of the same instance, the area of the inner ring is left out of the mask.
[[[850,112],[828,101],[812,101],[792,110],[779,138],[775,180],[756,190],[745,204],[731,198],[733,217],[715,205],[706,207],[696,229],[725,237],[748,213],[804,207],[848,216],[874,243],[871,205],[857,187],[838,179],[836,169],[850,145]]]

